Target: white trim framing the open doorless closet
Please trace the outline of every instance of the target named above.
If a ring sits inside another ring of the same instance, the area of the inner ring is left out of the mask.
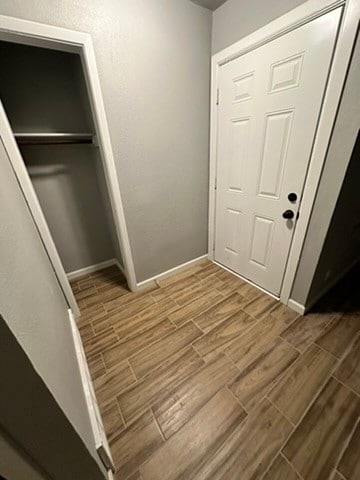
[[[91,36],[88,33],[76,32],[51,25],[0,15],[0,40],[78,53],[80,55],[95,123],[96,141],[104,168],[116,227],[117,240],[124,261],[125,274],[130,290],[136,291],[137,282],[134,263]],[[1,103],[0,135],[3,138],[13,169],[29,205],[34,221],[53,265],[55,274],[60,282],[69,306],[74,315],[77,316],[79,311],[76,300]]]

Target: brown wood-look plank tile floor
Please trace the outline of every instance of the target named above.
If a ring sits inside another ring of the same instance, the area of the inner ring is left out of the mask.
[[[207,261],[74,281],[116,480],[359,480],[358,274],[305,317]]]

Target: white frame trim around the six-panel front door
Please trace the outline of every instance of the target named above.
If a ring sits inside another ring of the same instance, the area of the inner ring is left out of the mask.
[[[210,185],[209,185],[209,259],[214,261],[215,250],[215,202],[217,169],[217,132],[218,132],[218,81],[219,69],[225,63],[244,55],[272,40],[294,30],[329,11],[343,6],[335,54],[330,69],[328,85],[315,141],[310,158],[303,196],[300,204],[300,216],[296,223],[289,258],[280,293],[280,301],[289,303],[292,285],[301,256],[307,227],[315,201],[317,187],[327,148],[330,142],[338,105],[346,79],[351,52],[356,38],[360,2],[358,0],[308,0],[289,13],[277,18],[265,27],[244,37],[235,44],[213,55],[211,65],[211,126],[210,126]]]

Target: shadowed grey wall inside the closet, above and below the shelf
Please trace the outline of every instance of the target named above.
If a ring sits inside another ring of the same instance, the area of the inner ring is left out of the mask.
[[[0,42],[0,98],[14,133],[95,131],[80,56]],[[66,273],[123,265],[98,148],[19,145]]]

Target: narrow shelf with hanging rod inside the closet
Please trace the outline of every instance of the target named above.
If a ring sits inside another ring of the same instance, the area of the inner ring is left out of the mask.
[[[92,133],[14,133],[19,145],[95,144]]]

